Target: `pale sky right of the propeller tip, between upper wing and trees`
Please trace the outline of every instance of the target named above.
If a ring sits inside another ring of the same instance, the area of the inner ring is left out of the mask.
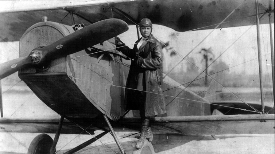
[[[271,73],[271,54],[270,54],[270,32],[269,24],[262,24],[261,26],[261,54],[263,62],[263,72],[269,71]],[[273,40],[274,40],[274,24],[272,24]],[[197,30],[189,32],[177,32],[171,28],[154,25],[152,34],[163,42],[169,41],[169,47],[185,57],[192,57],[195,59],[196,66],[204,69],[203,63],[201,63],[202,55],[198,52],[202,48],[210,48],[217,58],[223,52],[223,55],[219,57],[219,60],[225,62],[229,67],[233,67],[237,64],[244,63],[251,59],[258,58],[258,45],[257,45],[257,29],[255,26],[242,26],[233,28],[223,28],[212,30]],[[211,33],[211,34],[210,34]],[[208,37],[207,35],[210,34]],[[240,37],[241,36],[241,37]],[[118,36],[126,45],[130,48],[134,46],[135,41],[138,39],[136,26],[130,26],[129,30]],[[240,37],[240,38],[239,38]],[[205,40],[203,40],[206,38]],[[238,39],[239,38],[239,39]],[[237,40],[238,39],[238,40]],[[202,43],[200,43],[203,40]],[[237,40],[237,41],[236,41]],[[200,44],[199,44],[200,43]],[[199,44],[199,46],[197,46]],[[197,47],[196,47],[197,46]],[[274,47],[274,43],[273,43]],[[274,52],[274,51],[273,51]],[[176,55],[169,56],[170,52],[165,53],[165,66],[164,69],[170,70],[182,59]],[[266,56],[264,56],[266,55]],[[214,59],[215,59],[214,58]],[[180,71],[185,69],[184,60],[181,62],[174,71]],[[268,70],[266,70],[268,69]],[[259,71],[258,59],[239,65],[229,70],[230,72],[246,74],[257,74]]]

